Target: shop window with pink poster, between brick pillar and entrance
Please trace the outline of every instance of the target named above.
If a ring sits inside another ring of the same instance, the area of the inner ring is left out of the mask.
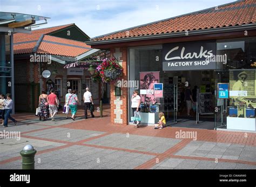
[[[138,90],[142,98],[140,104],[142,123],[156,123],[159,120],[158,114],[164,106],[163,97],[158,98],[153,93],[154,84],[163,82],[161,46],[130,49],[129,58],[129,80],[133,85],[130,87],[129,98],[131,99],[134,90]],[[131,122],[133,111],[131,107],[129,108]]]

